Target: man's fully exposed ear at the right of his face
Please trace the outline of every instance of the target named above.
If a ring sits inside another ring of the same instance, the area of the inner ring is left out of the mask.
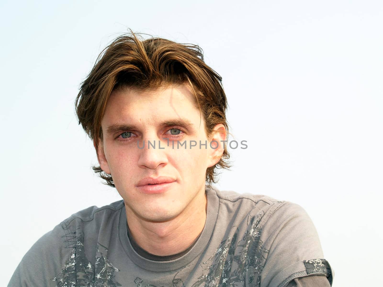
[[[214,127],[214,132],[210,136],[208,143],[208,167],[215,165],[221,159],[224,147],[226,146],[227,135],[223,124],[217,124]]]

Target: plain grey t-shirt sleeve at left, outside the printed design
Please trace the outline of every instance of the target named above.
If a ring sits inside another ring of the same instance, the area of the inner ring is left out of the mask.
[[[69,257],[65,242],[71,240],[61,225],[44,234],[27,251],[8,283],[8,287],[54,287],[52,280]],[[64,244],[63,244],[64,243]]]

